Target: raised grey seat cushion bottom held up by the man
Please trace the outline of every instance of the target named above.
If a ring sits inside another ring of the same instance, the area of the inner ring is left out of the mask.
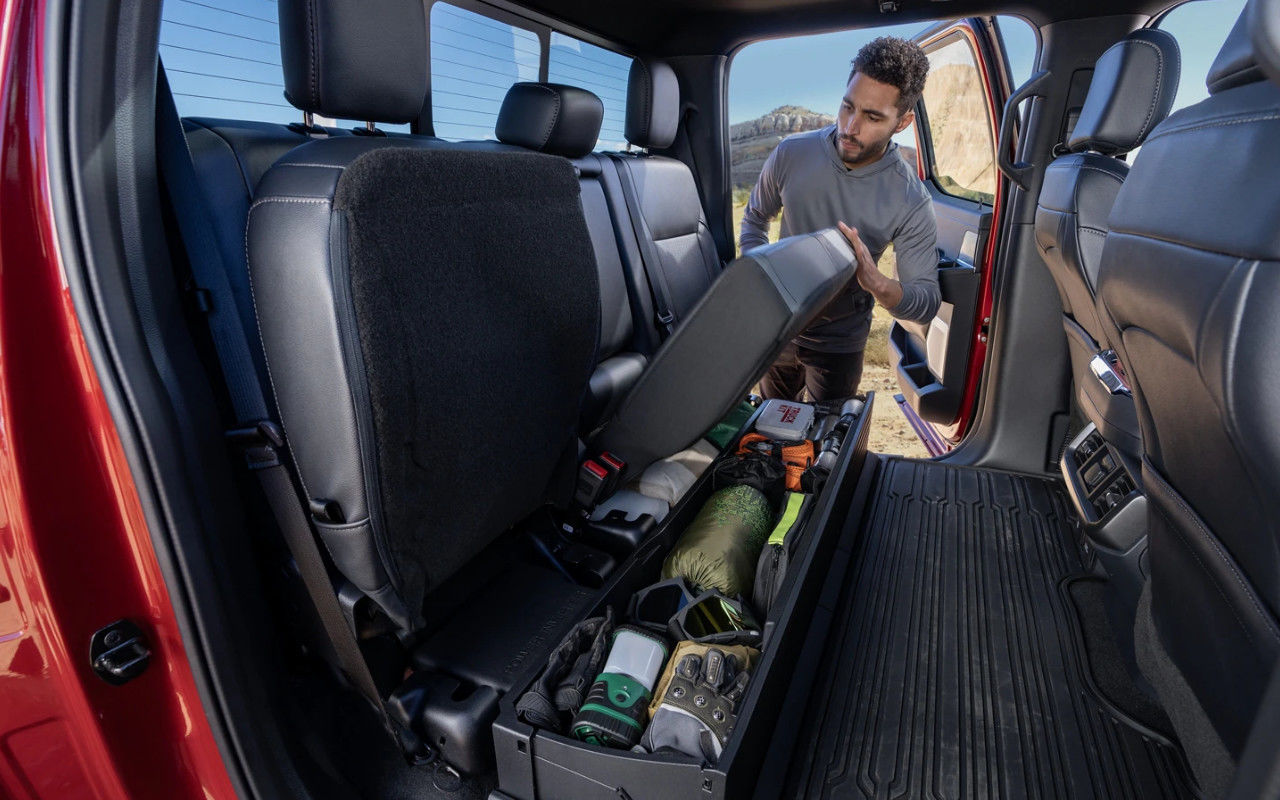
[[[617,453],[628,476],[687,447],[852,275],[852,251],[832,229],[733,261],[658,351],[594,447]]]

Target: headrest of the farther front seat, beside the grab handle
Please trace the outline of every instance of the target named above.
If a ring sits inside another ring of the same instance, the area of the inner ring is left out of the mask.
[[[1093,68],[1071,151],[1129,152],[1174,105],[1181,58],[1167,31],[1143,28],[1111,45]]]

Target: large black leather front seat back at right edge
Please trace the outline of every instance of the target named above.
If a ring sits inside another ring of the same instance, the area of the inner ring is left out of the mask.
[[[1210,97],[1148,137],[1098,275],[1142,426],[1138,660],[1211,796],[1280,655],[1280,86],[1251,47],[1256,5]]]

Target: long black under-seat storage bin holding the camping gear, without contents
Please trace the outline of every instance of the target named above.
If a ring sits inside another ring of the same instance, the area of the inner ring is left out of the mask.
[[[600,797],[634,800],[742,796],[754,785],[788,689],[792,668],[809,630],[818,594],[845,525],[867,452],[873,396],[845,434],[835,466],[812,499],[799,529],[791,563],[776,600],[759,620],[762,655],[751,668],[737,705],[737,723],[714,764],[678,754],[649,754],[591,745],[522,722],[516,703],[524,687],[507,692],[493,726],[498,791],[521,800]],[[727,451],[731,453],[732,451]],[[727,456],[722,456],[724,458]],[[621,616],[639,589],[660,579],[663,561],[713,494],[713,468],[672,508],[668,517],[600,589],[584,616],[612,607]],[[527,675],[532,684],[539,672]]]

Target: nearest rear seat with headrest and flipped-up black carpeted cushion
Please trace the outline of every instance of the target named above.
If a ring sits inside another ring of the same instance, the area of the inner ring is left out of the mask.
[[[416,115],[421,3],[279,9],[303,110]],[[319,140],[262,178],[247,246],[315,525],[338,570],[415,630],[429,589],[541,506],[561,463],[571,475],[599,315],[573,168],[417,137]]]

